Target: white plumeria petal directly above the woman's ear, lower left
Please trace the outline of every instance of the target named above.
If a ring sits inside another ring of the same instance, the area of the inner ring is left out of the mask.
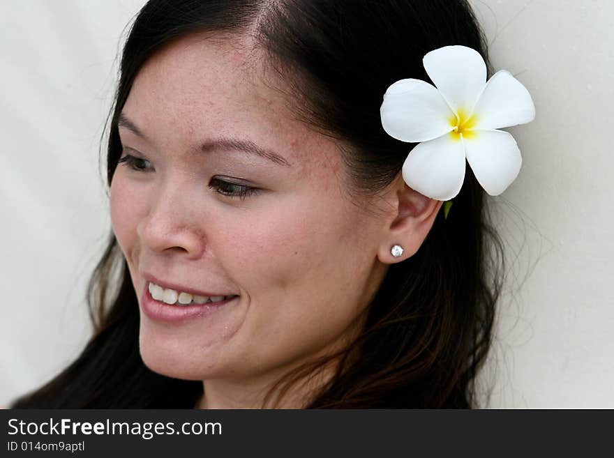
[[[458,194],[465,179],[465,148],[451,135],[424,142],[412,149],[403,164],[407,186],[437,200]]]

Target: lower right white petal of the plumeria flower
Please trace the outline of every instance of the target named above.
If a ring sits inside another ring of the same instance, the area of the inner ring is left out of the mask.
[[[482,188],[497,196],[516,179],[523,158],[516,140],[502,130],[479,130],[465,139],[467,161]]]

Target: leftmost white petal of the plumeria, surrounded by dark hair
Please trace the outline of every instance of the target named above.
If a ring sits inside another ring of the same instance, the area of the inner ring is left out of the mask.
[[[402,142],[418,143],[450,132],[452,113],[435,86],[420,79],[400,79],[384,94],[382,127]]]

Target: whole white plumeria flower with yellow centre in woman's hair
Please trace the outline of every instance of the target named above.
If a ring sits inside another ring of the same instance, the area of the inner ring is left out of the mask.
[[[507,70],[486,82],[486,63],[470,47],[435,49],[423,63],[437,87],[401,79],[380,109],[391,137],[419,143],[403,164],[405,183],[431,199],[452,199],[463,185],[466,158],[484,190],[501,194],[522,158],[514,137],[498,129],[535,118],[529,91]]]

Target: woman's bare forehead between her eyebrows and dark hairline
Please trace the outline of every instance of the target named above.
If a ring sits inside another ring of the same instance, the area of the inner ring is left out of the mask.
[[[294,116],[289,89],[248,38],[197,34],[144,63],[123,112],[161,147],[232,137],[339,169],[336,144]]]

